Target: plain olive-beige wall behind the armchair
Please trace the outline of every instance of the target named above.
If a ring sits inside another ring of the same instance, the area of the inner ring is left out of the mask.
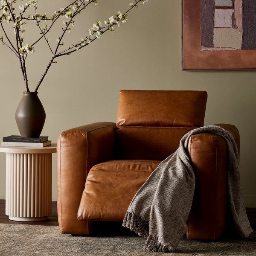
[[[44,0],[46,12],[68,0]],[[99,0],[79,17],[69,38],[81,38],[95,20],[125,10],[129,0]],[[44,11],[43,11],[44,12]],[[256,207],[256,72],[181,71],[181,1],[149,0],[134,9],[128,22],[95,44],[58,60],[39,90],[47,113],[42,135],[56,141],[68,128],[115,121],[121,89],[206,90],[205,124],[226,122],[241,134],[241,178],[247,207]],[[57,35],[54,35],[53,42]],[[49,56],[40,45],[28,65],[34,87]],[[0,47],[0,137],[18,134],[15,109],[24,90],[18,64]],[[55,157],[52,200],[56,200]],[[5,156],[0,154],[0,198],[5,198]]]

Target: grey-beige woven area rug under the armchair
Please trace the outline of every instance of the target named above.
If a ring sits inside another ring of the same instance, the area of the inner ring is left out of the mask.
[[[0,224],[1,256],[256,256],[256,243],[244,240],[182,240],[176,253],[147,252],[144,243],[138,236],[71,236],[58,227]]]

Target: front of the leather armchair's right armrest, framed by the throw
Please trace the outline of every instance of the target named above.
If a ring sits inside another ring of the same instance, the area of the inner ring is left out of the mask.
[[[195,134],[189,139],[188,152],[196,183],[186,235],[216,240],[225,227],[227,145],[216,134]]]

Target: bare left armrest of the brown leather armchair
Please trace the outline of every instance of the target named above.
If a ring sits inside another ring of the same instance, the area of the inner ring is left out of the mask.
[[[98,122],[61,133],[57,141],[58,222],[61,233],[89,234],[90,223],[77,220],[90,168],[111,160],[116,124]]]

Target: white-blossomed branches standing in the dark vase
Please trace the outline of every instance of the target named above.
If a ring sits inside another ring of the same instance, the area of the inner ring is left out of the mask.
[[[2,44],[4,44],[8,49],[12,51],[12,53],[15,54],[15,56],[19,59],[20,62],[20,69],[22,71],[23,79],[26,85],[26,90],[29,91],[28,86],[28,79],[27,79],[27,72],[26,72],[26,58],[29,53],[34,52],[34,46],[37,44],[42,38],[47,43],[47,46],[49,47],[49,50],[52,54],[52,57],[49,60],[49,63],[47,64],[46,69],[44,70],[44,73],[41,75],[40,80],[38,81],[38,84],[35,88],[35,92],[38,91],[38,88],[40,87],[42,81],[44,80],[49,68],[53,63],[56,63],[55,58],[58,58],[63,55],[70,55],[73,52],[78,51],[79,49],[87,46],[88,44],[95,41],[97,38],[101,38],[101,36],[107,32],[107,31],[114,31],[113,26],[120,26],[120,23],[125,23],[127,20],[128,12],[131,11],[134,7],[138,7],[138,3],[146,3],[148,0],[132,0],[134,3],[130,3],[129,9],[122,14],[121,12],[117,12],[116,15],[111,16],[108,20],[105,20],[105,25],[102,26],[102,23],[100,21],[96,21],[96,23],[93,24],[93,27],[88,30],[89,35],[85,36],[85,38],[81,38],[81,40],[76,43],[72,44],[70,47],[64,50],[59,50],[61,46],[64,45],[63,39],[68,31],[70,33],[71,26],[75,25],[74,18],[76,15],[79,15],[86,7],[94,3],[95,5],[98,4],[98,0],[75,0],[69,5],[67,5],[65,8],[61,8],[58,11],[55,11],[51,16],[47,16],[47,14],[41,14],[38,13],[38,0],[29,0],[27,3],[20,5],[19,9],[20,12],[16,14],[15,8],[13,5],[16,4],[18,0],[0,0],[0,12],[3,12],[3,14],[0,14],[0,28],[3,30],[4,37],[6,38],[5,41],[3,36],[0,36],[0,41]],[[23,1],[23,0],[20,0]],[[27,9],[30,7],[35,7],[35,15],[25,15]],[[24,17],[26,16],[26,17]],[[46,35],[49,33],[53,25],[56,23],[57,20],[59,20],[60,17],[67,18],[67,21],[63,21],[64,27],[62,28],[61,35],[57,38],[57,44],[55,48],[52,48],[49,42],[49,38],[46,37]],[[6,30],[3,26],[3,21],[7,21],[8,23],[13,23],[13,28],[15,30],[15,45],[10,40],[9,36],[6,33]],[[26,22],[34,21],[36,23],[36,26],[38,26],[40,30],[40,37],[32,44],[24,44],[24,38],[23,35],[25,34],[25,29],[23,29],[23,26],[26,25]],[[41,22],[46,22],[44,24],[44,27],[41,27]],[[49,24],[51,22],[51,24]]]

